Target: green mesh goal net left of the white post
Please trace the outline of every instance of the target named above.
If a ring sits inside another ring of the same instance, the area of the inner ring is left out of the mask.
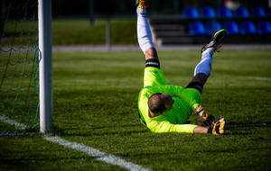
[[[38,0],[0,5],[0,134],[38,130]]]

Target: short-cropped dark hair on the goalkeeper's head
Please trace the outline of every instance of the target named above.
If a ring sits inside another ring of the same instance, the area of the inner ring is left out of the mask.
[[[152,94],[148,100],[148,106],[151,112],[155,114],[166,111],[164,106],[165,98],[161,93]]]

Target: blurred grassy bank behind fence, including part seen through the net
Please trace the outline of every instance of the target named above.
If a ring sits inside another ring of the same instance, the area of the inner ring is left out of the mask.
[[[87,19],[52,20],[52,45],[105,45],[106,20],[96,20],[90,25]],[[111,20],[111,43],[137,44],[135,20]],[[37,22],[7,23],[2,46],[35,45]],[[23,35],[22,31],[25,33]],[[13,38],[13,35],[15,37]],[[123,39],[126,38],[126,39]]]

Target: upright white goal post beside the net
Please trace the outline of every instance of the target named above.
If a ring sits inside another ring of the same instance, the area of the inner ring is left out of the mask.
[[[52,124],[51,0],[39,0],[40,131]]]

